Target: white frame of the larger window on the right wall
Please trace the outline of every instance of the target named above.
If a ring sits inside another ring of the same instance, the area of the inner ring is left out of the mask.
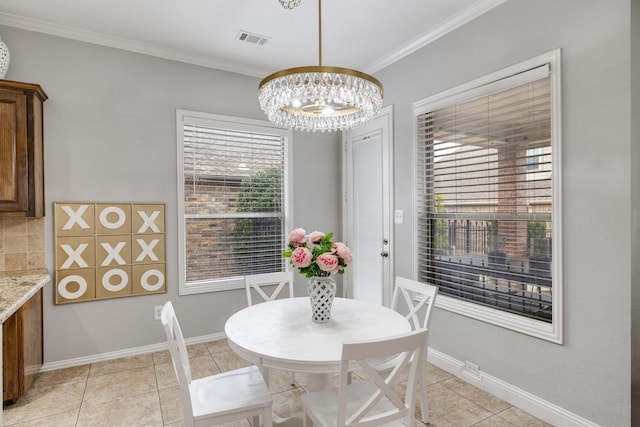
[[[492,325],[517,331],[526,335],[550,341],[556,344],[563,343],[563,268],[562,268],[562,88],[561,88],[561,49],[539,55],[535,58],[512,65],[500,71],[480,77],[471,82],[462,84],[439,94],[416,101],[413,103],[412,126],[413,147],[412,153],[416,161],[412,162],[413,179],[413,212],[417,213],[417,161],[418,159],[418,118],[421,114],[450,105],[461,99],[472,99],[477,93],[482,92],[483,86],[501,79],[517,76],[527,70],[549,64],[551,84],[551,147],[552,147],[552,321],[551,323],[530,319],[518,314],[505,312],[496,308],[475,304],[446,295],[438,295],[435,306],[453,313],[480,320]],[[414,215],[413,236],[418,235],[418,217]],[[414,237],[412,270],[414,277],[418,277],[417,256],[419,242]]]

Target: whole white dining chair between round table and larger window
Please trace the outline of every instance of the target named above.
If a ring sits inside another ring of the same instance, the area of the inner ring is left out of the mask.
[[[437,286],[428,285],[426,283],[417,282],[404,277],[396,277],[396,287],[391,298],[391,308],[411,323],[414,330],[426,329],[429,331],[431,327],[431,314],[433,313],[433,304],[438,295]],[[421,311],[424,316],[420,317]],[[419,383],[420,394],[420,411],[422,413],[421,420],[423,423],[429,422],[429,401],[427,399],[427,347],[429,344],[429,336],[424,346],[423,363],[420,365]],[[389,370],[391,366],[388,364],[377,367],[379,370]]]

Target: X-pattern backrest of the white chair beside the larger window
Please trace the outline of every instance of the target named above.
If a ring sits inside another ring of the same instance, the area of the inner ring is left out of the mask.
[[[426,283],[417,282],[415,280],[406,279],[404,277],[396,277],[396,288],[393,291],[391,299],[391,308],[400,311],[398,306],[400,298],[408,308],[405,318],[411,323],[411,327],[415,329],[427,328],[431,324],[431,314],[433,313],[433,304],[438,295],[438,287],[427,285]],[[415,299],[414,297],[417,297]],[[420,321],[418,312],[425,307],[426,312],[424,319]]]

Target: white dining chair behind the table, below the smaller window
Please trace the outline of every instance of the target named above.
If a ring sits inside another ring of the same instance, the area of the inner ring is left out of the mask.
[[[293,271],[278,271],[274,273],[261,273],[244,276],[244,287],[247,291],[247,305],[253,305],[253,294],[260,297],[259,302],[273,301],[283,295],[288,298],[294,297],[293,292]],[[288,295],[284,292],[288,291]],[[264,375],[267,384],[269,383],[269,368],[263,367],[262,374]],[[291,385],[296,383],[295,372],[289,373],[289,382]]]

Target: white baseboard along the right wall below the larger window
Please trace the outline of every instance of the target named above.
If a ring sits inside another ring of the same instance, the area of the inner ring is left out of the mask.
[[[515,387],[499,378],[479,371],[476,375],[464,369],[465,364],[437,350],[429,348],[427,359],[440,369],[460,377],[464,381],[484,390],[505,402],[557,427],[600,427],[579,415],[569,412],[551,402]]]

